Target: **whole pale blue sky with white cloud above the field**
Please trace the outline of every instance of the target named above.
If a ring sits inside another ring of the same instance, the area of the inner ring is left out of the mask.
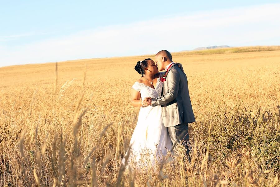
[[[279,10],[276,0],[0,0],[0,66],[280,45]]]

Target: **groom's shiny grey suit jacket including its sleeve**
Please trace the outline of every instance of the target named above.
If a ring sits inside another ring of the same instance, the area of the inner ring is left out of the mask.
[[[161,106],[165,127],[195,122],[187,76],[178,65],[170,67],[163,82],[161,97],[152,98],[152,106]]]

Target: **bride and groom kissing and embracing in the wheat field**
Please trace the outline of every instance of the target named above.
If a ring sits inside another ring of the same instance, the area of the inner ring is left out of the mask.
[[[131,104],[140,111],[122,160],[140,170],[162,163],[168,151],[174,156],[183,153],[190,161],[188,127],[195,122],[182,65],[174,63],[167,50],[154,60],[138,61],[134,68],[142,77],[132,86]]]

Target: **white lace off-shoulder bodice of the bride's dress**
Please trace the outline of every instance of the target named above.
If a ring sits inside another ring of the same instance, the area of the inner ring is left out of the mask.
[[[145,85],[144,83],[135,82],[132,86],[133,89],[140,91],[141,99],[146,97],[157,98],[161,96],[161,90],[163,86],[163,82],[161,82],[161,77],[163,72],[160,73],[160,76],[157,78],[155,89]]]

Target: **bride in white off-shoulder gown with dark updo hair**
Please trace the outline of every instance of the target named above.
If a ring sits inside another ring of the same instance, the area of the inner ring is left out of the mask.
[[[161,77],[165,72],[158,72],[157,65],[152,59],[137,62],[134,68],[142,77],[132,86],[131,104],[141,107],[138,121],[132,134],[128,151],[122,164],[145,170],[162,162],[162,157],[172,149],[172,142],[163,125],[161,106],[152,107],[144,98],[161,96],[163,82]],[[129,156],[128,156],[129,155]],[[125,158],[127,163],[125,164]]]

